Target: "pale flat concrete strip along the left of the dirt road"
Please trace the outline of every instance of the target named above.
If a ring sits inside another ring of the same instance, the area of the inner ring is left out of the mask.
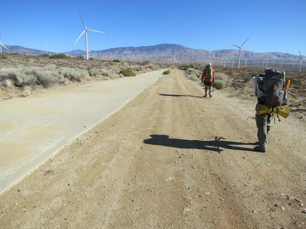
[[[118,111],[161,78],[162,72],[0,101],[0,193]]]

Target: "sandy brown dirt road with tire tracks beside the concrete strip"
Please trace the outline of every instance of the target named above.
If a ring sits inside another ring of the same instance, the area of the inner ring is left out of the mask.
[[[254,152],[227,95],[172,71],[2,194],[1,228],[305,228],[305,123]]]

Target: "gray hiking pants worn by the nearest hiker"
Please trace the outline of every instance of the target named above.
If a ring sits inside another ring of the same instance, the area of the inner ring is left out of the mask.
[[[257,137],[261,150],[267,150],[267,136],[271,128],[271,121],[273,119],[273,114],[262,114],[256,115],[256,125],[257,125]]]

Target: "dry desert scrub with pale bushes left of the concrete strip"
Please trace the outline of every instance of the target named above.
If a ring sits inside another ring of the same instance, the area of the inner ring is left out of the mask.
[[[4,58],[2,57],[4,56]],[[65,86],[92,79],[109,80],[166,68],[163,65],[113,61],[85,61],[81,58],[51,56],[0,55],[0,96],[28,96],[37,89]],[[78,59],[79,58],[79,59]],[[83,57],[84,58],[84,57]]]

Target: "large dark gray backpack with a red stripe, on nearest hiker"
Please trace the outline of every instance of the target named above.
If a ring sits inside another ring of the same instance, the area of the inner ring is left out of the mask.
[[[258,99],[259,104],[277,107],[287,104],[285,71],[279,69],[267,69],[265,76],[259,85],[259,90],[265,96]]]

